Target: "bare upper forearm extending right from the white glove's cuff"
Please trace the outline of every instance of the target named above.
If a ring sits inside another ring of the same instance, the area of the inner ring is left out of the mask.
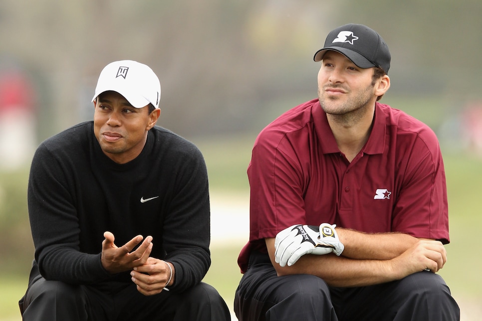
[[[368,234],[336,229],[345,249],[342,255],[351,259],[390,260],[417,243],[418,239],[403,233]]]

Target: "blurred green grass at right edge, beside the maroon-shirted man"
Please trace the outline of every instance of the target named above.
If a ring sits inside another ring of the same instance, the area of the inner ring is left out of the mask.
[[[482,158],[464,154],[444,157],[449,198],[451,243],[448,263],[440,274],[454,296],[482,299],[481,250]]]

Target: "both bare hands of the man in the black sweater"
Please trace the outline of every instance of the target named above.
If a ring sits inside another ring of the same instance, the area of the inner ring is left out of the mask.
[[[114,244],[114,234],[111,232],[105,232],[104,238],[101,262],[109,273],[131,271],[137,290],[146,296],[158,294],[168,286],[174,267],[168,266],[168,262],[150,257],[152,236],[143,238],[138,235],[121,247]],[[133,251],[137,245],[139,247]]]

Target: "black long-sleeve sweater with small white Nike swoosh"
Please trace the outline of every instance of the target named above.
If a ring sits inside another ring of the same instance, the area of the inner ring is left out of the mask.
[[[152,235],[151,256],[176,269],[170,287],[175,292],[199,283],[211,264],[203,156],[158,126],[149,131],[141,154],[125,164],[102,152],[93,122],[44,141],[31,164],[28,211],[34,265],[47,280],[131,282],[129,272],[112,276],[102,267],[105,231],[114,234],[117,246]]]

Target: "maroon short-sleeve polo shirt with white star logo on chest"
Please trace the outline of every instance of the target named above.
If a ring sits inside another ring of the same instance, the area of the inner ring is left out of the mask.
[[[370,137],[349,162],[318,99],[299,105],[258,135],[247,174],[252,250],[266,252],[294,224],[323,222],[367,233],[401,232],[449,242],[445,170],[437,137],[422,122],[376,103]]]

